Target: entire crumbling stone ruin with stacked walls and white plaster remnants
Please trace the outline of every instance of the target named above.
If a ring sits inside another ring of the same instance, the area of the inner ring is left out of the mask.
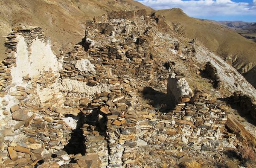
[[[58,57],[40,28],[6,37],[1,164],[156,167],[173,152],[222,150],[226,109],[193,95],[185,77],[169,75],[148,52],[157,24],[142,15],[111,12],[88,21],[85,41]],[[87,38],[94,43],[85,49]],[[143,103],[143,87],[174,97],[175,107],[160,113]]]

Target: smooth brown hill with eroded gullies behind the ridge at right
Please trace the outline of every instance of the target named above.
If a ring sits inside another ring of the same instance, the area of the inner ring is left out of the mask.
[[[256,65],[256,43],[238,33],[207,20],[189,17],[181,9],[159,10],[157,14],[180,24],[188,38],[198,39],[224,59],[231,58],[233,67],[239,72],[248,72]]]

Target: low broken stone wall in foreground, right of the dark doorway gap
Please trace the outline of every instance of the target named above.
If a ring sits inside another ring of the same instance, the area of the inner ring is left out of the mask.
[[[155,150],[222,149],[222,132],[227,115],[220,104],[197,100],[193,104],[177,104],[169,113],[158,114],[153,109],[129,107],[123,101],[129,100],[129,97],[124,95],[112,99],[104,96],[90,103],[92,105],[100,101],[102,104],[98,104],[98,115],[107,118],[106,130],[99,130],[99,126],[90,124],[82,128],[86,151],[96,152],[102,160],[102,166],[134,165],[142,155],[150,156]],[[144,158],[145,162],[149,158]]]

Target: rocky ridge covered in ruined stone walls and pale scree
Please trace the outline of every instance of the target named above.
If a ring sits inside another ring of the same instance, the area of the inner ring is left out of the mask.
[[[234,68],[145,10],[86,27],[60,55],[40,28],[6,37],[2,167],[253,165],[256,90]]]

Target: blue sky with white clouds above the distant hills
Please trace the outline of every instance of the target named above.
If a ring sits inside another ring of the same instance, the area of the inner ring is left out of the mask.
[[[256,22],[256,0],[137,0],[153,9],[180,8],[190,17]]]

